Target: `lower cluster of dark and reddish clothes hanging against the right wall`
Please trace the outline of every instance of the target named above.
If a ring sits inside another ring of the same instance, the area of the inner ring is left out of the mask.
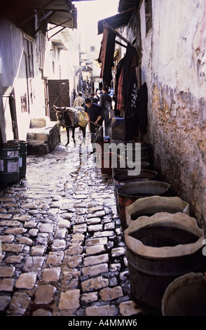
[[[137,140],[140,133],[146,133],[147,127],[147,86],[139,89],[137,80],[137,51],[128,44],[125,57],[118,63],[116,73],[116,109],[121,110],[125,118],[125,140]]]

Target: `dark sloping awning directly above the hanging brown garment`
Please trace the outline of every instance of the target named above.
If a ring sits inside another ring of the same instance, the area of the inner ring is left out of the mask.
[[[98,34],[102,34],[104,31],[104,22],[106,22],[113,29],[118,29],[128,25],[132,15],[135,13],[135,8],[131,8],[128,11],[123,11],[123,13],[118,13],[109,18],[104,18],[104,20],[98,21]]]

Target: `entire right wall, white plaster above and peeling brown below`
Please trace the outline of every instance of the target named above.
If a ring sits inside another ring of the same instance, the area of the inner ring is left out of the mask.
[[[156,169],[191,215],[206,221],[206,3],[153,0],[146,34],[140,8],[142,83],[149,90],[149,141]]]

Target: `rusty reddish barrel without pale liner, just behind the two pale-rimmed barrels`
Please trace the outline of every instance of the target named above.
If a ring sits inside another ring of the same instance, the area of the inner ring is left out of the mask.
[[[158,180],[137,181],[118,187],[118,210],[123,230],[127,228],[125,215],[125,208],[127,206],[131,205],[139,198],[154,195],[165,196],[169,189],[169,183]]]

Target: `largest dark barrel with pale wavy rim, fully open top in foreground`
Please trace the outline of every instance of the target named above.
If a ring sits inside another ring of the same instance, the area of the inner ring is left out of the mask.
[[[125,230],[126,254],[133,301],[161,313],[167,286],[188,272],[204,272],[204,232],[184,213],[142,216]]]

